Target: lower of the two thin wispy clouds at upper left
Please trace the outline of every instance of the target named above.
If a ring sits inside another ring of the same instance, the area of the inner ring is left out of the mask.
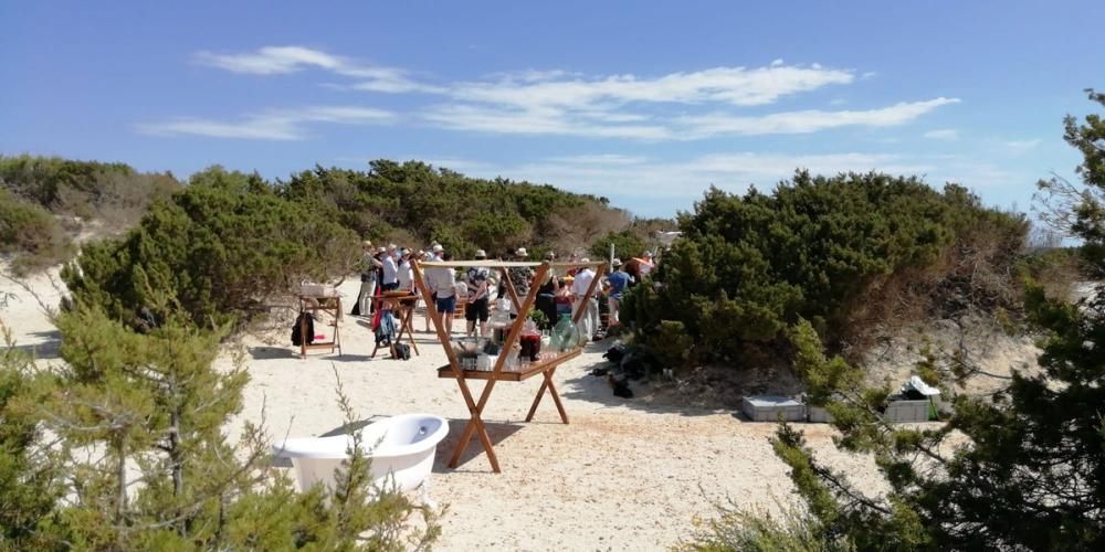
[[[302,140],[309,124],[385,124],[394,115],[382,109],[356,106],[317,106],[301,109],[271,109],[246,115],[235,121],[181,117],[139,125],[138,130],[155,136],[204,136],[252,140]]]

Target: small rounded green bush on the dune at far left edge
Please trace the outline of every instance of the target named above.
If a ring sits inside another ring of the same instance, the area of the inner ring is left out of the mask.
[[[13,272],[55,265],[72,252],[69,236],[49,211],[0,188],[0,254],[14,255]]]

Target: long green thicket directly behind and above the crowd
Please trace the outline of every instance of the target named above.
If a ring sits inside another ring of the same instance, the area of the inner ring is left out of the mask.
[[[397,243],[413,238],[409,246],[436,240],[461,257],[477,248],[495,256],[518,246],[558,243],[565,225],[581,226],[589,242],[604,227],[603,221],[576,217],[576,210],[619,221],[622,216],[602,198],[551,185],[467,178],[420,161],[377,160],[368,172],[316,167],[276,188],[287,199],[327,210],[361,236]]]

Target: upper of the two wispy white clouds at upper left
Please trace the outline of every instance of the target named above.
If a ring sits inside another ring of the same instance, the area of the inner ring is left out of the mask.
[[[415,82],[408,72],[400,68],[358,63],[304,46],[265,46],[256,52],[236,54],[199,52],[194,60],[202,65],[253,75],[283,75],[306,68],[320,68],[359,79],[348,86],[360,91],[387,93],[443,91],[438,86]]]

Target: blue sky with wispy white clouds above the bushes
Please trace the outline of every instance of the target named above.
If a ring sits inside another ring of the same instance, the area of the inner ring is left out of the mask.
[[[796,167],[1027,210],[1105,2],[0,0],[0,153],[287,177],[420,159],[639,215]]]

